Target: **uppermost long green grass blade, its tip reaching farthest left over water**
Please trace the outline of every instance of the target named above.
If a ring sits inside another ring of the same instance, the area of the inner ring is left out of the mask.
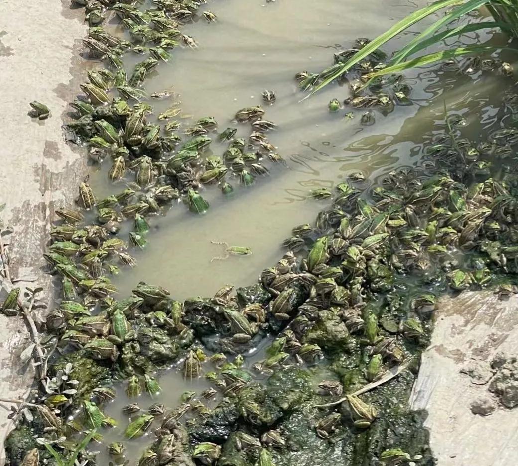
[[[414,11],[411,13],[411,15],[408,15],[406,18],[399,21],[397,24],[392,26],[388,31],[384,32],[383,34],[376,37],[376,39],[372,40],[371,43],[367,44],[365,47],[363,47],[361,50],[356,52],[353,57],[347,62],[344,63],[343,66],[334,74],[329,76],[327,79],[324,79],[318,86],[316,86],[306,97],[304,97],[302,100],[305,100],[306,98],[313,95],[315,92],[320,91],[323,87],[327,86],[330,82],[341,76],[343,73],[346,73],[347,70],[349,70],[353,65],[358,63],[360,60],[367,57],[369,53],[372,53],[373,51],[379,49],[383,44],[387,43],[390,39],[397,36],[402,31],[405,31],[410,26],[415,24],[416,22],[421,21],[422,19],[426,18],[427,16],[431,15],[431,13],[434,13],[437,10],[440,10],[442,8],[447,8],[452,5],[460,5],[464,2],[459,0],[439,0],[438,2],[435,2],[431,5],[428,5],[425,8],[422,8],[418,11]]]

